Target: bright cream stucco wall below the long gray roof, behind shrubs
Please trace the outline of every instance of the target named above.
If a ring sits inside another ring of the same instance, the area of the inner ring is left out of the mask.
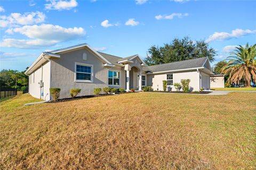
[[[147,75],[147,86],[152,86],[154,90],[163,90],[163,80],[167,79],[167,73],[163,74],[148,74]],[[173,84],[180,83],[181,79],[190,79],[189,86],[193,88],[193,91],[199,90],[199,77],[197,71],[189,72],[174,72],[173,73]],[[172,91],[176,89],[172,87]]]

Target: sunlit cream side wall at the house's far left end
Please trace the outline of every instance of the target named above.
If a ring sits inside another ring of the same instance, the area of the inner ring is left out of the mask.
[[[43,74],[42,74],[43,70]],[[45,63],[29,75],[29,94],[44,100],[50,99],[50,62]],[[39,82],[43,80],[44,87],[40,88]],[[43,93],[43,96],[41,94]]]

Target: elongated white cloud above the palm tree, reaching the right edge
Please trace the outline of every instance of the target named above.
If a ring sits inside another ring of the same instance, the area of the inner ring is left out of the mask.
[[[227,40],[231,38],[239,38],[246,35],[249,35],[251,33],[256,33],[256,30],[243,30],[243,29],[235,29],[231,31],[231,33],[228,32],[214,32],[213,35],[209,36],[209,38],[206,40],[207,42],[211,42],[214,40]]]

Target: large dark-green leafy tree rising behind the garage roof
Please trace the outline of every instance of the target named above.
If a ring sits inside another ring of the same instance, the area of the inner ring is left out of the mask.
[[[204,40],[194,42],[189,37],[184,37],[174,38],[170,44],[164,44],[163,47],[151,46],[144,61],[148,65],[155,65],[208,57],[213,62],[215,55],[215,50],[209,48],[209,44]]]

